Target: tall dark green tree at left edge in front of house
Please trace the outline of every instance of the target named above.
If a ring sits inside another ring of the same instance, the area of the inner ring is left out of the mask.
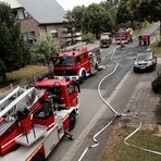
[[[28,62],[28,52],[24,48],[20,24],[11,8],[0,3],[0,77],[7,79],[7,72],[12,72]],[[26,59],[26,60],[24,60]]]

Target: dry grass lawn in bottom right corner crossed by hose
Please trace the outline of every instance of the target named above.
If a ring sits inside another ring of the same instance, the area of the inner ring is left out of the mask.
[[[107,145],[101,161],[161,161],[161,156],[137,150],[124,145],[124,138],[133,132],[133,127],[117,128]],[[152,150],[161,151],[161,137],[153,135],[153,131],[139,131],[129,143]]]

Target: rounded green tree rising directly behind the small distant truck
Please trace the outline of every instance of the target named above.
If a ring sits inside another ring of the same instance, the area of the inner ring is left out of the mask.
[[[83,30],[92,33],[98,38],[103,32],[111,30],[113,26],[110,13],[99,4],[90,4],[83,15]]]

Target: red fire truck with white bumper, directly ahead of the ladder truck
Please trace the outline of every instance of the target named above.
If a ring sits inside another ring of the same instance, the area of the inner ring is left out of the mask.
[[[100,67],[100,48],[91,45],[74,46],[53,60],[55,79],[67,76],[83,83],[88,75],[95,74]]]

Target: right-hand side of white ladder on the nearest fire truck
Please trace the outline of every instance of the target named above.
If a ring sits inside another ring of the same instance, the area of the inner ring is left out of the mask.
[[[0,136],[15,123],[17,111],[27,108],[28,110],[45,94],[44,90],[37,90],[35,87],[24,90],[22,95],[15,98],[3,110],[0,111]],[[10,98],[10,97],[9,97]]]

